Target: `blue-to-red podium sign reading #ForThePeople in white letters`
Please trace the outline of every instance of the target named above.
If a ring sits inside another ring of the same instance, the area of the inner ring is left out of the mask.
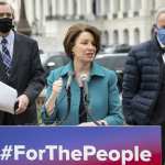
[[[0,127],[0,165],[161,165],[160,127]]]

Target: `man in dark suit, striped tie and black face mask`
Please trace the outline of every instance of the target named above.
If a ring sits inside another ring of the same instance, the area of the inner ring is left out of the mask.
[[[13,30],[14,12],[0,1],[0,81],[18,91],[15,114],[0,110],[0,125],[36,124],[35,99],[45,85],[37,43]]]

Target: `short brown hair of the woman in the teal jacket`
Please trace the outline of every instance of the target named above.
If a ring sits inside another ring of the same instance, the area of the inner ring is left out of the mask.
[[[69,56],[73,59],[73,47],[75,45],[75,41],[76,38],[79,36],[79,34],[81,32],[89,32],[92,34],[94,40],[95,40],[95,45],[96,45],[96,53],[99,52],[100,50],[100,31],[91,25],[88,24],[84,24],[84,23],[77,23],[72,25],[64,38],[64,48],[65,48],[65,53],[67,54],[67,56]]]

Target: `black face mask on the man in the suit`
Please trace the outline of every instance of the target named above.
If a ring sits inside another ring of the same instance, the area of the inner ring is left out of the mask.
[[[0,32],[8,33],[12,28],[13,28],[12,19],[10,18],[0,19]]]

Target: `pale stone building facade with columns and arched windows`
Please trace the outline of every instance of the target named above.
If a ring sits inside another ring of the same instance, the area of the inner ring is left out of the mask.
[[[20,8],[20,0],[8,1]],[[165,7],[165,0],[25,0],[33,34],[53,38],[57,45],[76,22],[100,29],[102,45],[139,44],[151,37],[160,7]]]

